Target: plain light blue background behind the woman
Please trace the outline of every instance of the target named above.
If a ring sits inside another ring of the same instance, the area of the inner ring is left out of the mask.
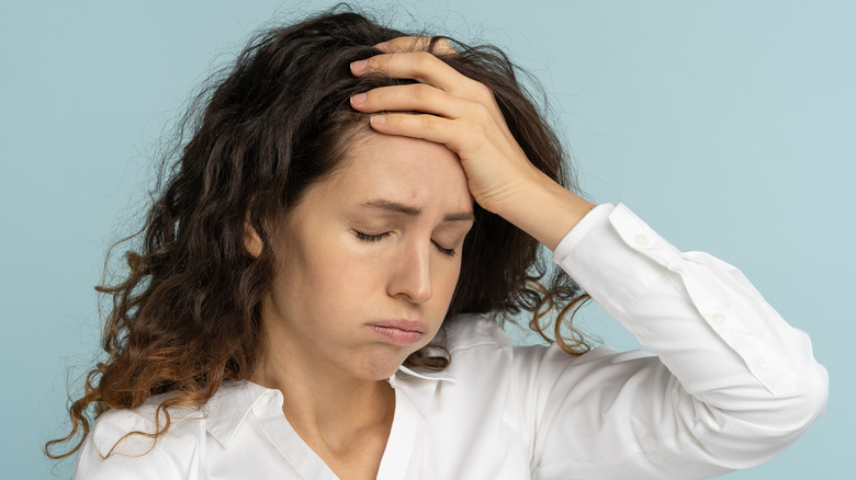
[[[161,130],[250,32],[331,4],[302,3],[0,5],[0,477],[52,478],[40,448],[65,432],[67,368],[98,350],[92,286],[133,226]],[[392,9],[398,26],[481,36],[540,78],[590,197],[739,265],[811,334],[832,381],[826,415],[779,458],[729,478],[856,478],[856,3],[405,5]],[[633,347],[597,308],[582,316]]]

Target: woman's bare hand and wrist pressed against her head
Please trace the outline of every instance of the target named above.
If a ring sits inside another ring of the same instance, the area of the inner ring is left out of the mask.
[[[461,159],[478,204],[554,250],[594,208],[536,169],[508,130],[493,94],[425,49],[429,38],[401,37],[378,45],[387,54],[354,61],[356,76],[381,71],[420,83],[383,87],[354,95],[360,112],[418,111],[423,115],[374,115],[371,126],[386,135],[444,145]],[[451,50],[444,41],[441,50]],[[453,50],[451,50],[453,52]]]

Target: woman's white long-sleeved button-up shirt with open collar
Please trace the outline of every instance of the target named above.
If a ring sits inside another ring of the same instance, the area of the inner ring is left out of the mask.
[[[401,367],[379,479],[692,479],[762,464],[823,413],[825,369],[731,265],[682,253],[627,207],[600,205],[554,252],[640,343],[568,356],[514,346],[481,316],[447,328],[441,373]],[[226,382],[176,410],[155,446],[155,397],[95,422],[76,478],[311,479],[336,476],[282,413],[282,395]]]

